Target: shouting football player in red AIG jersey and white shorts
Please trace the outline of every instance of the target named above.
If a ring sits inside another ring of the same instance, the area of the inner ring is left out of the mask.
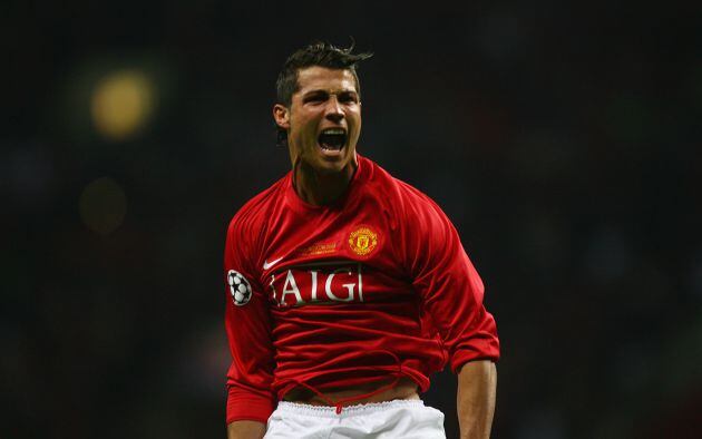
[[[443,212],[357,154],[370,55],[351,50],[287,59],[273,117],[292,170],[228,227],[228,438],[442,438],[418,392],[447,363],[461,437],[488,438],[499,342],[482,282]]]

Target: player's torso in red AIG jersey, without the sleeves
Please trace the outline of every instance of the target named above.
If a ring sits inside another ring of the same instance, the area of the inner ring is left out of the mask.
[[[408,243],[432,236],[415,212],[433,208],[360,159],[332,206],[301,201],[289,175],[237,214],[236,247],[247,258],[233,267],[262,293],[255,300],[267,301],[279,399],[358,404],[417,399],[418,387],[429,387],[447,357],[412,284],[420,265]]]

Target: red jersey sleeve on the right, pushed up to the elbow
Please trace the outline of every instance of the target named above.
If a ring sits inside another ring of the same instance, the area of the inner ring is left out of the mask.
[[[499,359],[493,315],[482,304],[484,285],[458,232],[428,197],[409,205],[403,233],[407,270],[448,352],[454,371],[472,360]]]

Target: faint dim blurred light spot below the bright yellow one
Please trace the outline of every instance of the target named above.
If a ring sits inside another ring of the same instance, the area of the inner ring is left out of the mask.
[[[109,235],[119,227],[127,212],[127,197],[109,177],[98,178],[80,194],[80,218],[100,235]]]

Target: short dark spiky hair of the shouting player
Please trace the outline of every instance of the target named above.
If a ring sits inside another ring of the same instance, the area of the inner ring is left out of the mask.
[[[329,69],[349,70],[355,80],[355,90],[361,96],[361,84],[355,72],[357,64],[373,56],[371,52],[351,53],[353,50],[353,39],[351,46],[342,49],[329,42],[313,42],[291,55],[283,69],[277,75],[275,81],[276,98],[279,104],[290,107],[292,96],[300,89],[298,84],[298,74],[306,67],[326,67]],[[284,145],[287,139],[287,133],[277,127],[277,143]]]

